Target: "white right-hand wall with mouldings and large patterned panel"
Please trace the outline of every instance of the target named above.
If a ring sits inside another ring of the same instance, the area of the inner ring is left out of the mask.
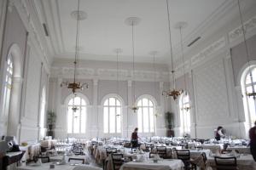
[[[255,18],[255,6],[243,13],[243,20],[247,25],[247,38],[256,34],[256,24],[253,21]],[[191,137],[213,138],[213,130],[223,126],[227,130],[227,135],[247,138],[240,81],[235,82],[240,80],[237,72],[241,72],[241,65],[247,60],[244,48],[240,47],[243,45],[240,44],[236,49],[236,45],[241,42],[241,22],[239,18],[234,18],[224,27],[218,28],[211,37],[202,38],[185,54],[185,72],[191,77],[187,82],[194,95],[191,98]],[[255,38],[247,42],[249,51],[253,52]],[[232,62],[230,48],[239,51],[240,56],[236,54],[236,62]],[[250,59],[255,59],[253,54],[250,53]],[[183,63],[179,60],[176,65],[178,83],[183,86],[183,83],[180,83],[183,78]],[[176,115],[175,131],[180,134],[178,105],[175,102],[172,102],[172,111]]]

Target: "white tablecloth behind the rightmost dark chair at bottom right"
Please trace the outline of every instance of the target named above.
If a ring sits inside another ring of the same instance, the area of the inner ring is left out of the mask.
[[[224,155],[221,155],[224,156]],[[240,155],[240,157],[236,158],[237,166],[239,170],[256,170],[256,162],[253,160],[252,155]],[[214,157],[207,157],[207,166],[214,167],[215,161]]]

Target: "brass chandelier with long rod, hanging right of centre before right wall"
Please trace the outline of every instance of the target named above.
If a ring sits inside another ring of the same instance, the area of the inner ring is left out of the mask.
[[[183,90],[177,90],[176,88],[176,80],[175,80],[175,71],[173,65],[173,54],[172,54],[172,32],[171,32],[171,23],[170,23],[170,12],[169,12],[169,3],[166,0],[167,6],[167,18],[168,18],[168,29],[169,29],[169,42],[170,42],[170,50],[171,50],[171,62],[172,62],[172,82],[173,88],[168,91],[163,91],[162,95],[166,96],[167,98],[172,97],[172,99],[176,100],[179,95],[183,94]]]

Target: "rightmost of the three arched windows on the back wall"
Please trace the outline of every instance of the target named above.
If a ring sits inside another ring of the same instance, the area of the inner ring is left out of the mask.
[[[143,98],[137,102],[137,122],[141,133],[154,133],[154,102],[148,98]]]

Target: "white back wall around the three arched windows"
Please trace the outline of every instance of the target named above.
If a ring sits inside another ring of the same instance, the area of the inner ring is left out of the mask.
[[[49,111],[55,111],[57,121],[55,127],[55,138],[67,137],[67,105],[65,99],[72,94],[70,89],[61,88],[61,82],[72,81],[73,65],[67,60],[55,60],[52,65],[52,74],[49,82]],[[163,89],[168,89],[167,65],[157,65],[154,73],[152,64],[138,64],[134,79],[131,81],[131,63],[120,63],[122,69],[119,71],[119,91],[117,91],[115,62],[104,61],[80,61],[79,80],[87,82],[88,89],[80,92],[89,99],[86,133],[73,135],[78,138],[109,137],[113,134],[103,133],[103,110],[102,99],[108,94],[118,94],[124,101],[122,108],[122,133],[119,134],[130,138],[131,132],[137,127],[137,115],[131,112],[133,87],[135,86],[136,99],[143,94],[152,96],[156,101],[156,108],[161,114],[155,118],[155,133],[144,135],[166,135],[165,116],[170,111],[169,99],[161,95]],[[84,71],[83,71],[84,69]],[[86,70],[85,70],[86,69]],[[155,74],[155,77],[154,77]],[[154,82],[154,80],[156,82]],[[127,131],[128,130],[128,131]]]

